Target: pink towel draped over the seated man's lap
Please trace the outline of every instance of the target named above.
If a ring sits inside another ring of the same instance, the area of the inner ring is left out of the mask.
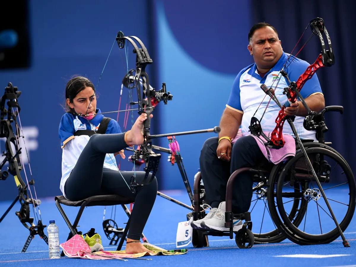
[[[237,135],[235,136],[234,139],[232,139],[231,143],[235,143],[237,139],[239,139],[240,137],[242,137],[242,132],[241,129],[239,129],[239,131],[237,132]],[[283,135],[284,141],[286,141],[286,143],[284,144],[283,147],[279,148],[279,149],[275,149],[275,148],[269,148],[267,146],[265,146],[265,144],[263,143],[264,139],[263,137],[261,137],[261,139],[263,139],[263,141],[254,136],[254,135],[247,135],[247,136],[253,136],[253,138],[255,138],[258,147],[260,147],[263,156],[265,156],[265,158],[268,159],[269,162],[272,162],[273,164],[277,164],[281,161],[284,161],[286,159],[288,159],[289,157],[294,157],[295,156],[295,140],[293,138],[293,136],[291,135]]]

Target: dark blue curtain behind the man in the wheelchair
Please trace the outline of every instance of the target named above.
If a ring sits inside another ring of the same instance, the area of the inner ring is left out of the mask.
[[[251,26],[265,21],[276,27],[286,53],[292,51],[310,20],[315,17],[324,19],[325,27],[331,37],[335,64],[330,68],[321,68],[316,74],[324,93],[325,105],[344,106],[343,115],[335,112],[325,115],[326,126],[329,129],[325,140],[333,143],[332,147],[344,156],[352,170],[355,171],[355,71],[352,66],[356,55],[354,23],[351,23],[352,16],[355,16],[354,5],[347,0],[295,0],[282,4],[281,1],[276,0],[253,0],[252,4]],[[311,34],[309,27],[295,48],[294,55]],[[313,63],[320,51],[319,38],[314,36],[298,57]]]

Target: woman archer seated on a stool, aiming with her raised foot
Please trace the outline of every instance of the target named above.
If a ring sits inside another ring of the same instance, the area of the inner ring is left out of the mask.
[[[156,177],[150,184],[135,187],[132,193],[129,184],[134,172],[119,171],[115,161],[119,153],[124,158],[125,147],[143,143],[147,114],[142,113],[131,130],[124,133],[115,120],[104,123],[104,116],[96,108],[94,85],[85,77],[74,77],[67,83],[65,109],[58,130],[62,147],[60,189],[64,197],[78,201],[117,194],[134,200],[126,253],[151,252],[141,244],[140,237],[156,200]],[[92,130],[100,129],[101,123],[107,124],[105,134],[93,134]],[[140,184],[145,172],[135,172],[135,176]]]

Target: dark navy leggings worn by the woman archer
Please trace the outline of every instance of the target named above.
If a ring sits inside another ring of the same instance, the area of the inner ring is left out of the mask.
[[[82,200],[94,195],[111,194],[132,199],[135,205],[132,209],[127,237],[140,240],[143,228],[156,200],[157,180],[155,177],[150,184],[135,187],[136,192],[132,193],[127,184],[130,184],[133,172],[103,168],[106,153],[116,153],[125,147],[127,145],[124,142],[124,133],[91,136],[66,181],[64,191],[66,197],[72,201]],[[141,183],[144,177],[145,172],[136,172],[137,183]]]

